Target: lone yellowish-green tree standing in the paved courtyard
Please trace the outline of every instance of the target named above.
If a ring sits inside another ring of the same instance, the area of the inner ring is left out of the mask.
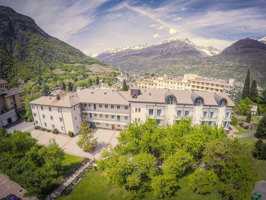
[[[97,145],[98,138],[94,138],[93,130],[90,128],[90,125],[85,122],[85,118],[82,119],[80,127],[81,130],[78,131],[79,135],[76,143],[83,151],[92,151]]]

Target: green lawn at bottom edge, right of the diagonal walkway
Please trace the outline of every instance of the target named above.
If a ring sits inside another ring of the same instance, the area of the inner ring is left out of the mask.
[[[116,199],[157,199],[153,198],[150,191],[149,183],[142,187],[142,193],[139,192],[135,197],[127,196],[123,198],[123,190],[119,190],[115,185],[107,181],[107,170],[103,172],[94,171],[92,168],[88,174],[77,184],[71,193],[65,197],[58,197],[57,200],[77,200],[77,199],[94,199],[94,200],[116,200]],[[218,182],[211,194],[199,195],[194,193],[188,186],[188,177],[185,176],[179,181],[180,189],[171,198],[164,199],[194,199],[194,200],[209,200],[222,199],[218,193],[220,182]]]

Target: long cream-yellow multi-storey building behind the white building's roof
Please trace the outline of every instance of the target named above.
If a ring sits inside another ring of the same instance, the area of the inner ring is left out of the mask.
[[[147,78],[138,81],[138,88],[221,92],[226,93],[230,98],[232,97],[233,87],[234,79],[229,79],[228,83],[210,81],[197,74],[185,74],[181,81],[168,79],[167,77]]]

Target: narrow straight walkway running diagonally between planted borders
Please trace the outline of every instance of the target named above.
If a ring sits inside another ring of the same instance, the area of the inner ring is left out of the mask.
[[[60,186],[58,186],[57,189],[55,189],[51,194],[49,194],[49,196],[45,200],[55,199],[89,165],[91,165],[90,160],[88,160],[86,163],[84,163],[84,165],[82,165],[79,169],[77,169],[68,179],[66,179]]]

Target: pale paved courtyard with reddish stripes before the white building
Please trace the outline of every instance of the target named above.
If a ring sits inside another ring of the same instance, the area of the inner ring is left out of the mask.
[[[32,137],[36,138],[38,141],[37,143],[41,145],[47,145],[50,138],[55,138],[56,143],[68,154],[80,156],[80,157],[87,157],[87,158],[95,158],[99,159],[101,156],[101,152],[105,149],[105,147],[109,144],[117,145],[117,136],[119,135],[119,131],[114,130],[106,130],[106,129],[97,129],[93,130],[95,137],[98,137],[98,145],[96,149],[94,149],[93,153],[88,153],[82,151],[76,142],[78,141],[78,135],[73,138],[70,138],[66,135],[62,134],[53,134],[47,131],[41,130],[32,130],[31,135]]]

